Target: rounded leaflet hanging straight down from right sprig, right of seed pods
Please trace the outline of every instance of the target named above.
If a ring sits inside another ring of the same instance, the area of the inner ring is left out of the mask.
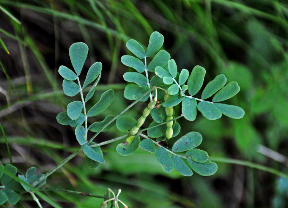
[[[195,98],[186,97],[182,101],[182,114],[188,121],[194,121],[197,116],[197,101]]]

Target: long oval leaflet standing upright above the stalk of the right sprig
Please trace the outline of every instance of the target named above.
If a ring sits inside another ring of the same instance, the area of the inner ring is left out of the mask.
[[[195,66],[188,78],[188,92],[191,96],[195,95],[201,89],[206,70],[203,67]]]

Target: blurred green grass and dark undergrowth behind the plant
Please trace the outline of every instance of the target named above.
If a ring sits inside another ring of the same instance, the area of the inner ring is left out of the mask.
[[[147,45],[150,34],[159,31],[178,69],[206,69],[204,86],[220,73],[228,82],[237,81],[240,93],[225,103],[245,110],[240,120],[223,116],[209,121],[201,114],[193,122],[180,119],[179,136],[199,131],[201,149],[211,160],[248,160],[287,173],[287,17],[284,0],[0,0],[0,122],[15,166],[22,174],[31,166],[43,173],[78,149],[73,128],[56,122],[56,115],[75,99],[64,96],[57,72],[60,65],[72,68],[71,44],[89,46],[83,74],[92,63],[103,64],[98,93],[88,105],[104,90],[115,91],[100,121],[130,103],[123,97],[122,75],[132,70],[120,61],[130,54],[126,41]],[[137,104],[126,115],[137,118],[144,105]],[[175,114],[180,113],[175,108]],[[118,135],[112,128],[96,142]],[[0,161],[9,163],[2,135],[0,143]],[[51,175],[46,187],[97,195],[107,187],[121,188],[120,199],[129,207],[288,207],[287,179],[226,163],[218,163],[211,177],[165,174],[154,155],[139,150],[123,157],[116,145],[103,148],[106,163],[99,168],[89,169],[80,154]],[[97,207],[102,202],[61,192],[45,194],[63,207]],[[21,197],[18,207],[36,207],[31,197]]]

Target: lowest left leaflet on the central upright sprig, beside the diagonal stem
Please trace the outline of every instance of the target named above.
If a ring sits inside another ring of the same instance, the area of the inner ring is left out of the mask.
[[[128,84],[124,90],[124,97],[128,100],[137,100],[141,97],[145,92],[149,91],[149,87],[147,86],[138,86],[136,84]],[[149,94],[141,99],[142,102],[148,100]]]

